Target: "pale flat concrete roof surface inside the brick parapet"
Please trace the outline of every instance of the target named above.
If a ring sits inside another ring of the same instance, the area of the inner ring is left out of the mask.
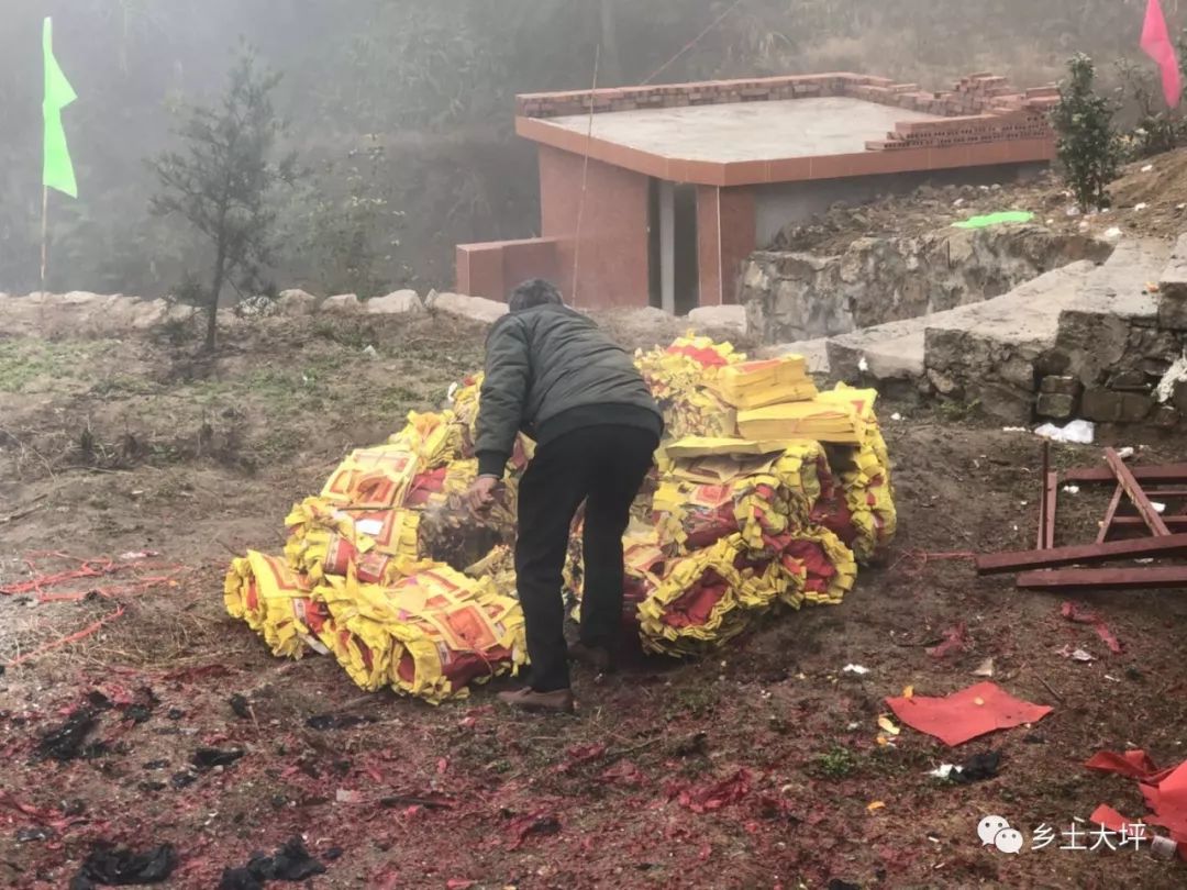
[[[895,125],[944,120],[846,96],[640,108],[594,115],[594,138],[666,158],[729,164],[865,151]],[[589,115],[540,123],[579,134]]]

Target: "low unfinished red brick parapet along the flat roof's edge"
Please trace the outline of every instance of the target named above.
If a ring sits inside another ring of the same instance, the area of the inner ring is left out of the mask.
[[[817,96],[845,96],[947,120],[904,122],[883,140],[867,142],[871,152],[899,148],[941,148],[959,145],[1048,140],[1053,133],[1047,113],[1059,101],[1054,87],[1018,91],[1004,77],[978,72],[944,93],[895,83],[886,77],[853,74],[762,77],[743,81],[628,87],[575,93],[535,93],[516,97],[523,117],[558,117],[624,112],[636,108],[677,108],[731,102],[767,102]]]

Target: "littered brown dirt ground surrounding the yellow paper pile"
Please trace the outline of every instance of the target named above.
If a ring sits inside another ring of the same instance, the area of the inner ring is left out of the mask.
[[[711,660],[578,670],[575,718],[499,711],[491,687],[436,708],[367,695],[331,660],[271,657],[222,609],[230,555],[278,551],[291,503],[347,449],[434,407],[481,345],[445,317],[245,325],[212,363],[166,332],[0,338],[0,587],[30,564],[128,565],[49,589],[74,602],[0,596],[0,884],[66,886],[110,841],[171,843],[167,885],[214,888],[301,834],[326,865],[311,888],[1182,886],[1187,866],[1145,851],[1007,856],[977,839],[989,814],[1029,838],[1102,802],[1144,813],[1134,782],[1081,764],[1135,745],[1183,758],[1187,604],[1087,597],[1124,646],[1111,655],[1061,599],[944,558],[1033,543],[1039,491],[1037,439],[951,412],[881,407],[901,532],[843,605],[774,616]],[[1104,439],[1183,459],[1173,440]],[[1091,540],[1106,500],[1062,495],[1059,540]],[[965,650],[927,653],[960,624]],[[986,659],[1054,712],[956,750],[907,727],[877,743],[884,697],[953,692]],[[87,756],[39,757],[80,707],[96,720]],[[307,724],[326,714],[366,721]],[[202,748],[245,755],[189,770]],[[928,775],[989,750],[995,778]]]

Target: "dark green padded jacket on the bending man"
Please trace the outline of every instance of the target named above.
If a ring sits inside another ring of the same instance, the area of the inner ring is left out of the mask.
[[[664,431],[630,355],[590,318],[556,304],[503,316],[487,335],[475,451],[501,477],[520,431],[542,447],[573,430],[617,424]]]

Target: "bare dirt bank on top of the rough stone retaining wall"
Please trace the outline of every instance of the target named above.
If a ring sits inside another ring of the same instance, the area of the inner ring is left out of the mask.
[[[1178,237],[1187,228],[1187,151],[1131,164],[1109,187],[1112,208],[1081,215],[1053,173],[1028,183],[923,186],[868,204],[838,204],[811,222],[779,234],[772,249],[839,254],[861,237],[919,237],[971,216],[1029,210],[1035,223],[1056,231]]]

